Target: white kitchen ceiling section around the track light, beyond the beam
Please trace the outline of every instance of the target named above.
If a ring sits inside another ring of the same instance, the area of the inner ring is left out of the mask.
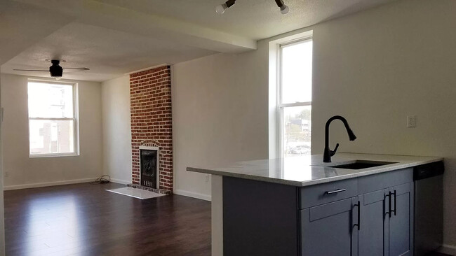
[[[215,6],[226,0],[95,1],[260,40],[396,0],[283,0],[290,8],[287,15],[274,0],[237,0],[223,15],[215,13]]]

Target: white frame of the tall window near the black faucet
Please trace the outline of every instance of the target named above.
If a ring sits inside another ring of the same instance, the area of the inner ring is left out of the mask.
[[[288,103],[288,104],[283,104],[282,103],[282,94],[283,94],[283,54],[282,50],[283,48],[286,48],[287,46],[291,45],[296,45],[299,43],[305,43],[307,41],[312,41],[313,42],[313,36],[304,36],[301,38],[295,38],[294,40],[291,41],[286,41],[283,43],[279,43],[278,48],[277,48],[277,99],[276,99],[276,108],[277,108],[277,131],[279,131],[279,136],[278,136],[278,144],[279,144],[279,158],[285,157],[285,130],[284,128],[284,123],[283,123],[283,111],[285,108],[289,107],[295,107],[295,106],[312,106],[312,101],[300,101],[300,102],[295,102],[295,103]],[[312,59],[314,56],[312,55]],[[312,67],[313,68],[313,67]]]

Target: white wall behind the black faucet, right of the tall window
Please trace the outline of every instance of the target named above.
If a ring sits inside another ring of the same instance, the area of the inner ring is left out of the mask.
[[[314,29],[312,150],[332,147],[395,155],[445,157],[445,243],[456,246],[456,1],[408,0]],[[417,115],[417,127],[406,127]]]

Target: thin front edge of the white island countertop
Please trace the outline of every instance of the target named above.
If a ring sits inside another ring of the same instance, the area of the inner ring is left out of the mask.
[[[201,168],[196,168],[196,167],[187,167],[187,171],[192,171],[192,172],[196,172],[196,173],[208,173],[208,174],[213,174],[213,175],[218,175],[218,176],[227,176],[227,177],[233,177],[233,178],[244,178],[244,179],[248,179],[248,180],[258,180],[258,181],[264,181],[264,182],[269,182],[269,183],[291,185],[291,186],[295,186],[295,187],[307,187],[307,186],[311,186],[311,185],[330,183],[330,182],[337,181],[337,180],[347,180],[349,178],[358,178],[358,177],[369,176],[369,175],[373,175],[373,174],[377,174],[377,173],[396,171],[396,170],[400,170],[400,169],[420,166],[423,164],[430,164],[430,163],[434,163],[434,162],[441,162],[441,161],[443,161],[443,157],[436,157],[434,159],[429,159],[429,160],[425,160],[425,161],[417,161],[417,162],[405,163],[405,164],[396,164],[394,166],[372,167],[372,168],[366,169],[366,171],[361,171],[358,173],[351,173],[351,174],[342,175],[342,176],[320,178],[318,180],[307,180],[307,181],[283,180],[281,178],[269,178],[269,177],[255,176],[255,175],[249,175],[249,174],[243,174],[243,173],[232,173],[232,172],[228,172],[228,171],[201,169]]]

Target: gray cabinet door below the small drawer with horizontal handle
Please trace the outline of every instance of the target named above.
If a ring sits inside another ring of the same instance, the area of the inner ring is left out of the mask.
[[[357,204],[353,197],[302,210],[302,256],[357,256]]]

